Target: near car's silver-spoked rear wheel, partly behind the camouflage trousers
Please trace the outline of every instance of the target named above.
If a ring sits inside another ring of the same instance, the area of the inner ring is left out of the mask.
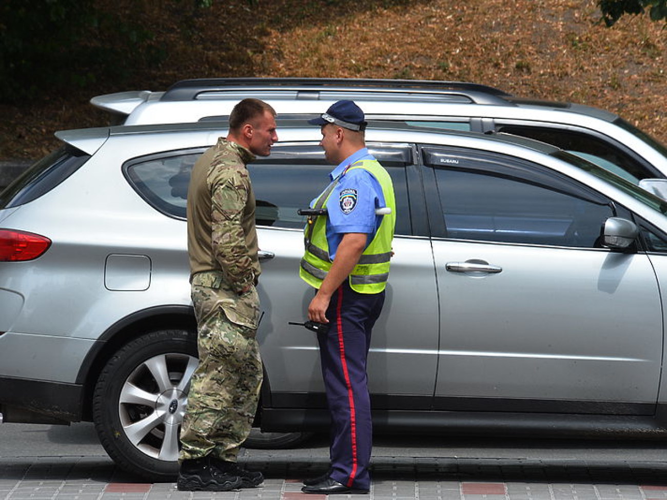
[[[93,421],[121,468],[153,481],[178,471],[179,429],[197,345],[183,330],[142,335],[104,367],[93,395]]]

